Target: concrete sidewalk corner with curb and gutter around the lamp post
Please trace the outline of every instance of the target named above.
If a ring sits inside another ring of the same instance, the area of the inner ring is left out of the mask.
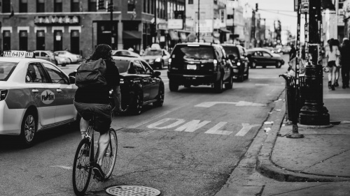
[[[328,89],[323,77],[323,103],[333,126],[299,126],[304,138],[289,139],[284,119],[284,93],[244,158],[216,196],[350,195],[350,89]],[[276,112],[280,111],[280,112]]]

